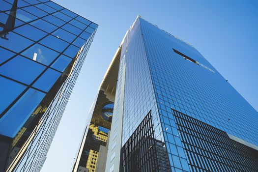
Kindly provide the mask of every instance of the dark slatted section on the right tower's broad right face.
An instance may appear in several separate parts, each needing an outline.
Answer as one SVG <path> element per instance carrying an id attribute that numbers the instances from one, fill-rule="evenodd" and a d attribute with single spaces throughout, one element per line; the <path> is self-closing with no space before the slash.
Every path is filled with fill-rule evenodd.
<path id="1" fill-rule="evenodd" d="M 257 172 L 258 151 L 226 132 L 173 110 L 193 172 Z"/>

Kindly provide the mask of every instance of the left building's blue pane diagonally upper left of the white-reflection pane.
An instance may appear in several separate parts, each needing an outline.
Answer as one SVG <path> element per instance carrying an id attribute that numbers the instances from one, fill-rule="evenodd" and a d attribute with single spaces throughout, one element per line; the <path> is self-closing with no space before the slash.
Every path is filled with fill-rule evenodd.
<path id="1" fill-rule="evenodd" d="M 19 33 L 33 41 L 38 41 L 47 35 L 46 32 L 36 29 L 30 25 L 24 25 L 14 30 L 16 33 Z"/>

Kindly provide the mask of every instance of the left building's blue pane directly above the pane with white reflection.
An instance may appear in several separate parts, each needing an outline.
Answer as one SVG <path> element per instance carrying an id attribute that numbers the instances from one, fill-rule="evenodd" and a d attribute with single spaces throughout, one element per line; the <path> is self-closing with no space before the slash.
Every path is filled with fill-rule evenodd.
<path id="1" fill-rule="evenodd" d="M 42 39 L 39 43 L 51 47 L 52 49 L 62 52 L 69 44 L 67 42 L 62 41 L 61 39 L 48 35 L 44 39 Z"/>

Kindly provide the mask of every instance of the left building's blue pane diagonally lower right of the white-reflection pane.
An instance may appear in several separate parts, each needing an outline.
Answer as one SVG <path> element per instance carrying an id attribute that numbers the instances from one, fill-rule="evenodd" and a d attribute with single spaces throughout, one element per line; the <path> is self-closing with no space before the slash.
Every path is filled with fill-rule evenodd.
<path id="1" fill-rule="evenodd" d="M 33 86 L 48 92 L 50 88 L 56 83 L 61 73 L 53 69 L 48 69 L 34 84 Z"/>

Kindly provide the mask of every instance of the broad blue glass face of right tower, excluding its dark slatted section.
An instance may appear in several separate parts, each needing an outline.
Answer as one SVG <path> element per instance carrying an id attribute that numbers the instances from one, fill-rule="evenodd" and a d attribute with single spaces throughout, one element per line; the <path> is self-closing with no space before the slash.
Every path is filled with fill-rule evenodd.
<path id="1" fill-rule="evenodd" d="M 257 111 L 195 48 L 139 20 L 172 172 L 190 169 L 171 108 L 258 145 Z"/>

